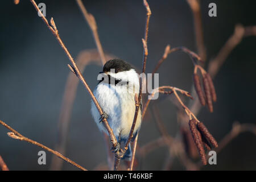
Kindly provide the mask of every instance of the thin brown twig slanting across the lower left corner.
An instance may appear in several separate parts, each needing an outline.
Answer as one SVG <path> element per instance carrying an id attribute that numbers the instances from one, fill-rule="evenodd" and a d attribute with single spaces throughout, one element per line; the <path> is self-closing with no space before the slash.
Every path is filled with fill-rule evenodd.
<path id="1" fill-rule="evenodd" d="M 11 132 L 7 133 L 7 134 L 9 135 L 9 137 L 14 138 L 14 139 L 18 139 L 18 140 L 20 140 L 20 141 L 26 141 L 26 142 L 32 143 L 32 144 L 34 144 L 34 145 L 36 145 L 36 146 L 42 147 L 42 148 L 44 148 L 45 150 L 51 152 L 52 154 L 58 156 L 59 158 L 65 160 L 65 162 L 71 163 L 73 166 L 75 166 L 75 167 L 77 167 L 77 168 L 79 168 L 79 169 L 81 169 L 81 170 L 83 170 L 83 171 L 87 171 L 87 169 L 85 169 L 84 167 L 80 166 L 79 164 L 73 162 L 72 160 L 66 158 L 64 155 L 60 154 L 59 152 L 57 152 L 57 151 L 55 151 L 55 150 L 52 150 L 51 148 L 46 147 L 46 146 L 44 146 L 44 145 L 41 144 L 41 143 L 38 143 L 38 142 L 36 142 L 36 141 L 34 141 L 34 140 L 31 140 L 31 139 L 29 139 L 29 138 L 27 138 L 27 137 L 24 137 L 22 134 L 18 133 L 18 131 L 14 130 L 12 127 L 10 127 L 9 125 L 7 125 L 5 122 L 3 122 L 3 121 L 0 120 L 0 124 L 3 125 L 3 126 L 5 126 L 8 130 L 11 131 Z"/>

